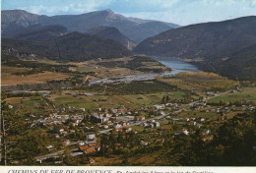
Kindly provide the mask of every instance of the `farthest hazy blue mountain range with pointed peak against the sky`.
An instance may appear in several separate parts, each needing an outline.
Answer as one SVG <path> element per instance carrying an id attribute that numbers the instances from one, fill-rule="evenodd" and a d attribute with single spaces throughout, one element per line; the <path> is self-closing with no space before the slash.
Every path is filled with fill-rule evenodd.
<path id="1" fill-rule="evenodd" d="M 162 23 L 148 20 L 131 20 L 122 15 L 115 14 L 111 10 L 96 11 L 82 15 L 59 15 L 59 16 L 39 16 L 21 10 L 2 11 L 2 35 L 11 34 L 8 31 L 10 25 L 15 23 L 19 27 L 27 28 L 34 24 L 43 26 L 61 25 L 71 31 L 85 31 L 98 26 L 106 26 L 119 29 L 121 33 L 129 39 L 140 42 L 143 39 L 158 34 L 161 31 L 172 29 L 170 23 Z M 146 28 L 150 23 L 151 27 Z M 175 28 L 176 25 L 173 25 Z M 17 28 L 14 26 L 14 28 Z M 15 30 L 15 29 L 13 29 Z"/>

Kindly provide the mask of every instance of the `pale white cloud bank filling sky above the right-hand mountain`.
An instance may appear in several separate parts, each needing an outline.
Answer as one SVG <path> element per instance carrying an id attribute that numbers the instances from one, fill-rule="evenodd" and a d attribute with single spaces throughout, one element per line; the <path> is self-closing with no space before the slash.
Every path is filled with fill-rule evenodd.
<path id="1" fill-rule="evenodd" d="M 186 26 L 256 15 L 256 0 L 182 0 L 160 11 L 124 13 L 124 16 L 160 20 Z M 159 7 L 159 6 L 158 6 Z"/>

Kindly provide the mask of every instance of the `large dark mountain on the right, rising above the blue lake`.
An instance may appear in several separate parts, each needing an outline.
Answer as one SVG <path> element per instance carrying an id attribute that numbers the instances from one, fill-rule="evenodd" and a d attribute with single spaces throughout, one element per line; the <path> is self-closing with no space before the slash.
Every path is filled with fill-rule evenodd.
<path id="1" fill-rule="evenodd" d="M 247 50 L 256 43 L 255 30 L 256 17 L 253 16 L 191 25 L 163 31 L 147 38 L 135 47 L 134 52 L 178 57 L 193 62 L 202 70 L 244 79 L 243 72 L 235 73 L 236 75 L 231 75 L 231 72 L 235 70 L 238 62 L 243 66 L 242 70 L 245 67 L 250 68 L 250 64 L 245 66 L 242 55 L 255 56 L 255 52 Z M 256 59 L 250 61 L 255 62 Z M 230 68 L 230 63 L 233 68 Z"/>

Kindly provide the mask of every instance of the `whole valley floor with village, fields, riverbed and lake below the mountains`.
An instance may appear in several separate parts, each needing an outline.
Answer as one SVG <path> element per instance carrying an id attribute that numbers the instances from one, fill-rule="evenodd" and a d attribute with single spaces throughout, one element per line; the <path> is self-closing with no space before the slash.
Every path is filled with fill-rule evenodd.
<path id="1" fill-rule="evenodd" d="M 11 165 L 178 165 L 162 152 L 172 152 L 174 146 L 166 142 L 193 138 L 197 129 L 211 144 L 225 122 L 256 109 L 255 87 L 199 72 L 177 60 L 131 56 L 57 62 L 7 57 L 2 59 L 2 89 L 4 84 L 70 84 L 6 87 L 2 92 L 6 119 L 16 124 L 8 141 L 25 150 L 27 145 L 17 144 L 27 134 L 23 143 L 32 138 L 40 148 L 29 154 L 31 160 L 12 149 Z M 175 142 L 169 142 L 171 136 Z M 154 155 L 150 160 L 149 154 Z"/>

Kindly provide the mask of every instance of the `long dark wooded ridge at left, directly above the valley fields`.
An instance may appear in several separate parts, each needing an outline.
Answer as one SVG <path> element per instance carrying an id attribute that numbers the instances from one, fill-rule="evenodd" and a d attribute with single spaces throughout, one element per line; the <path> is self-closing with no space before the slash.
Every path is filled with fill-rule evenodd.
<path id="1" fill-rule="evenodd" d="M 2 39 L 2 53 L 14 56 L 35 54 L 39 57 L 61 61 L 85 61 L 132 55 L 131 51 L 114 40 L 80 32 L 71 32 L 35 42 L 4 38 Z"/>

